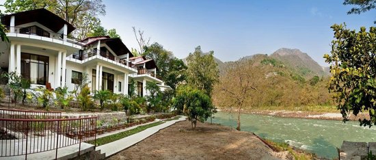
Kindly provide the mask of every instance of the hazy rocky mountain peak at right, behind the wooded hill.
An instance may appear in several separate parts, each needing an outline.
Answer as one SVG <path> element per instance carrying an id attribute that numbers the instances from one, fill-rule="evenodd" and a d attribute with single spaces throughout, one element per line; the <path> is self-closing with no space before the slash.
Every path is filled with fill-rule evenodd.
<path id="1" fill-rule="evenodd" d="M 280 60 L 286 67 L 291 68 L 303 77 L 329 75 L 327 70 L 324 70 L 307 53 L 303 53 L 299 49 L 278 49 L 270 57 Z"/>

